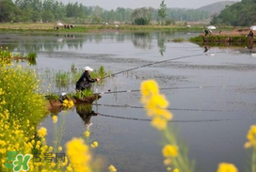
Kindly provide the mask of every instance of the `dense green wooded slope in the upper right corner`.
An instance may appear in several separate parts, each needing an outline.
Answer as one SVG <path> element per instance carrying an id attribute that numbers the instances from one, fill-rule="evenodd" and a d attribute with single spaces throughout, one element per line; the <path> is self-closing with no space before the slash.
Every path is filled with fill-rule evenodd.
<path id="1" fill-rule="evenodd" d="M 215 16 L 211 21 L 212 24 L 225 24 L 225 25 L 241 25 L 250 26 L 256 23 L 256 1 L 255 0 L 242 0 L 228 6 Z"/>

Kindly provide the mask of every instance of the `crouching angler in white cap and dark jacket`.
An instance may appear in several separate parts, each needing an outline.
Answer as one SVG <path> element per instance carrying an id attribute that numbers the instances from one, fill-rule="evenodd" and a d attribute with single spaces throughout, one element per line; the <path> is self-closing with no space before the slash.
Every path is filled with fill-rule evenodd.
<path id="1" fill-rule="evenodd" d="M 92 71 L 91 68 L 89 67 L 85 68 L 85 72 L 82 74 L 80 79 L 76 82 L 76 86 L 75 86 L 76 91 L 83 91 L 85 89 L 90 89 L 91 83 L 100 81 L 99 78 L 91 79 L 89 75 L 90 71 Z"/>

